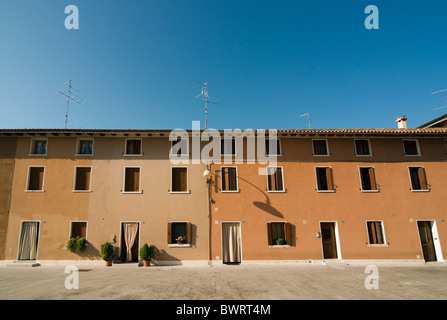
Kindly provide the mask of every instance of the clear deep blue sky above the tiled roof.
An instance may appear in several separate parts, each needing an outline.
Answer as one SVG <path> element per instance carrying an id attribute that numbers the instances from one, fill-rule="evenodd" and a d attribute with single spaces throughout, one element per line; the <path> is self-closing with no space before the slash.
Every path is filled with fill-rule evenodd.
<path id="1" fill-rule="evenodd" d="M 367 30 L 367 5 L 379 30 Z M 64 26 L 79 9 L 79 29 Z M 2 0 L 0 128 L 416 127 L 447 113 L 447 2 Z"/>

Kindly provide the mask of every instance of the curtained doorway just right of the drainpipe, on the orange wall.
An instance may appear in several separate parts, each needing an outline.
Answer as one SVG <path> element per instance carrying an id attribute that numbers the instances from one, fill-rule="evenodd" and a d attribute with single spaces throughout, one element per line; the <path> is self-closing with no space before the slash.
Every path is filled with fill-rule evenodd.
<path id="1" fill-rule="evenodd" d="M 241 263 L 241 234 L 239 222 L 222 223 L 222 261 L 226 264 Z"/>

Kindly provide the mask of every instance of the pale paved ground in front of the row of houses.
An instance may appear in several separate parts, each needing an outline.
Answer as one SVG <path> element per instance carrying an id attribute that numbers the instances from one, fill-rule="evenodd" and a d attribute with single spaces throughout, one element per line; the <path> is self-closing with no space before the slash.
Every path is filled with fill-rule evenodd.
<path id="1" fill-rule="evenodd" d="M 447 264 L 336 263 L 220 266 L 78 266 L 79 289 L 67 289 L 65 265 L 0 266 L 3 300 L 408 300 L 447 299 Z M 366 282 L 378 285 L 367 289 Z M 371 281 L 369 281 L 371 280 Z M 72 284 L 73 282 L 70 282 Z"/>

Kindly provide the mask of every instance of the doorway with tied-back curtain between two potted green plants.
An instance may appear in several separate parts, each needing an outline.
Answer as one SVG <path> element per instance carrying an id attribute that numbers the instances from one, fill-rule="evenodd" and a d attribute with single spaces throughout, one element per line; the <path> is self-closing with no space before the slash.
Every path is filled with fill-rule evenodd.
<path id="1" fill-rule="evenodd" d="M 121 223 L 120 256 L 122 262 L 138 262 L 139 222 Z"/>

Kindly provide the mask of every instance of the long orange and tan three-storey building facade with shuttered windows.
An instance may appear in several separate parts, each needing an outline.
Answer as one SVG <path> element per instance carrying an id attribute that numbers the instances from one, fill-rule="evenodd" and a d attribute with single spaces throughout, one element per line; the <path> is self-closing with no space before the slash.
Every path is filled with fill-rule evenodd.
<path id="1" fill-rule="evenodd" d="M 237 136 L 173 163 L 170 132 L 0 130 L 0 259 L 100 260 L 109 241 L 122 262 L 144 243 L 159 264 L 444 261 L 445 128 L 278 130 L 267 164 Z"/>

